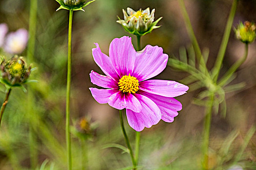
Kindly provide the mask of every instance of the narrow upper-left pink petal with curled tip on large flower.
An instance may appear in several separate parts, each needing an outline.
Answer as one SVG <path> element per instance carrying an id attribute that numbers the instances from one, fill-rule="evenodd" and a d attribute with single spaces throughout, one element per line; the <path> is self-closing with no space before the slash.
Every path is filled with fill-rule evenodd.
<path id="1" fill-rule="evenodd" d="M 117 75 L 115 69 L 112 67 L 110 58 L 101 51 L 98 43 L 94 44 L 96 45 L 96 48 L 92 49 L 92 56 L 95 63 L 107 76 L 112 77 L 114 80 L 119 80 L 120 77 Z"/>

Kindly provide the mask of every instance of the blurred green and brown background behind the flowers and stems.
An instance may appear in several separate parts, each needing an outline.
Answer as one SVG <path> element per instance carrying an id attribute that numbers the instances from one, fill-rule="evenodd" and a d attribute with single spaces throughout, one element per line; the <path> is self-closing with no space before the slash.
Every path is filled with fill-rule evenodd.
<path id="1" fill-rule="evenodd" d="M 224 33 L 232 0 L 185 0 L 195 35 L 201 49 L 209 49 L 208 68 L 212 68 Z M 29 28 L 30 0 L 0 0 L 0 23 L 7 23 L 9 31 Z M 55 10 L 55 0 L 38 0 L 37 31 L 31 79 L 32 98 L 14 89 L 6 107 L 0 128 L 0 170 L 66 169 L 65 152 L 65 88 L 67 58 L 68 11 Z M 125 145 L 118 110 L 108 104 L 97 103 L 90 94 L 89 72 L 103 73 L 92 58 L 93 43 L 99 43 L 108 54 L 113 38 L 129 35 L 116 23 L 123 18 L 122 9 L 131 7 L 155 8 L 155 18 L 163 17 L 160 28 L 142 37 L 142 47 L 157 45 L 170 57 L 179 55 L 180 47 L 190 45 L 177 0 L 96 0 L 85 12 L 74 12 L 72 32 L 71 124 L 74 170 L 116 170 L 131 166 L 127 153 L 106 148 L 108 143 Z M 238 21 L 256 21 L 256 0 L 240 0 L 233 25 Z M 136 37 L 132 35 L 136 47 Z M 223 62 L 222 75 L 243 55 L 244 45 L 231 32 Z M 11 55 L 1 51 L 1 55 Z M 26 57 L 26 50 L 22 53 Z M 256 43 L 249 45 L 246 62 L 237 70 L 231 84 L 245 82 L 246 86 L 228 93 L 227 115 L 213 114 L 210 140 L 210 167 L 229 168 L 244 143 L 249 128 L 256 123 Z M 167 67 L 157 79 L 178 81 L 187 77 Z M 143 170 L 198 170 L 205 108 L 193 104 L 202 89 L 188 91 L 177 97 L 183 109 L 172 123 L 160 121 L 141 133 L 139 165 Z M 3 101 L 4 93 L 0 93 Z M 31 106 L 31 107 L 29 107 Z M 80 119 L 91 124 L 89 135 L 77 133 Z M 125 119 L 128 136 L 133 144 L 135 133 Z M 82 137 L 81 137 L 82 136 Z M 235 140 L 232 138 L 235 136 Z M 229 151 L 223 149 L 230 145 Z M 38 156 L 36 156 L 38 155 Z M 43 164 L 43 166 L 42 166 Z M 238 162 L 244 170 L 256 170 L 256 136 Z M 45 167 L 44 167 L 45 165 Z M 43 168 L 44 167 L 44 168 Z M 220 168 L 221 170 L 222 168 Z"/>

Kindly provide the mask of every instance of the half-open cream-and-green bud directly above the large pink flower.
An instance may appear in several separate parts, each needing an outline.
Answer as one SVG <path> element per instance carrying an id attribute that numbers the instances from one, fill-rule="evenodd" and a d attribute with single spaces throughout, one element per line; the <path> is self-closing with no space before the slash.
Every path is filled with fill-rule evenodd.
<path id="1" fill-rule="evenodd" d="M 123 9 L 124 20 L 117 20 L 117 23 L 120 23 L 125 31 L 130 34 L 134 34 L 136 36 L 142 36 L 147 33 L 150 33 L 153 29 L 159 28 L 160 26 L 156 26 L 156 24 L 162 19 L 162 17 L 158 18 L 154 21 L 154 13 L 155 9 L 149 11 L 149 8 L 145 10 L 134 11 L 131 8 L 127 8 L 127 12 Z M 154 21 L 154 22 L 153 22 Z"/>

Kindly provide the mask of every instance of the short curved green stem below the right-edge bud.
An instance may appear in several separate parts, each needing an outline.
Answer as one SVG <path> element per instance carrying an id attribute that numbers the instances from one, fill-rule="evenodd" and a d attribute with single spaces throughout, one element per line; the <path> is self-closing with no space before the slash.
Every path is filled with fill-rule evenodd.
<path id="1" fill-rule="evenodd" d="M 225 83 L 229 80 L 229 78 L 233 75 L 233 73 L 235 72 L 235 70 L 237 68 L 239 68 L 239 66 L 241 66 L 246 58 L 247 58 L 247 55 L 248 55 L 248 44 L 246 43 L 245 44 L 245 52 L 244 52 L 244 55 L 243 57 L 241 57 L 239 60 L 237 60 L 235 62 L 234 65 L 231 66 L 231 68 L 229 68 L 229 70 L 226 72 L 226 74 L 222 77 L 222 79 L 219 81 L 218 85 L 222 86 L 222 85 L 225 85 Z"/>

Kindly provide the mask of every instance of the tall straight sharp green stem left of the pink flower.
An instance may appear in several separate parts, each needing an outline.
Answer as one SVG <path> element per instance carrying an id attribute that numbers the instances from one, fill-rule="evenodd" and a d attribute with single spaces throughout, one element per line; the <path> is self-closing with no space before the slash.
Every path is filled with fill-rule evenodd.
<path id="1" fill-rule="evenodd" d="M 73 10 L 69 10 L 68 45 L 67 45 L 67 81 L 66 81 L 66 149 L 68 170 L 72 170 L 71 138 L 70 138 L 70 84 L 71 84 L 71 33 Z"/>

